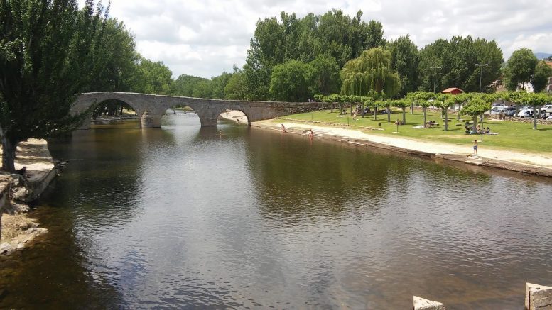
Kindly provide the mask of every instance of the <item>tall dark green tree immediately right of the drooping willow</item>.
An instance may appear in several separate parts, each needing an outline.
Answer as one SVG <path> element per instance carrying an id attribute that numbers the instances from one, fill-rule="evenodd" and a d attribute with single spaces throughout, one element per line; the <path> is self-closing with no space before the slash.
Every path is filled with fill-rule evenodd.
<path id="1" fill-rule="evenodd" d="M 419 86 L 420 56 L 418 47 L 406 35 L 406 37 L 389 42 L 386 48 L 391 52 L 391 68 L 399 74 L 401 85 L 399 97 L 404 97 L 409 92 L 415 92 Z"/>

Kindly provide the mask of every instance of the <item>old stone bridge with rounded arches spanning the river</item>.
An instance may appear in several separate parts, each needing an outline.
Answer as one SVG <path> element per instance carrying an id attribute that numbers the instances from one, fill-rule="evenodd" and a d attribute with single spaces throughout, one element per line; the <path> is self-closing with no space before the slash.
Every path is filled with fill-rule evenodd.
<path id="1" fill-rule="evenodd" d="M 227 110 L 242 111 L 247 116 L 247 121 L 250 124 L 253 121 L 323 108 L 320 103 L 310 102 L 239 101 L 126 92 L 93 92 L 78 94 L 75 104 L 71 108 L 71 113 L 79 114 L 85 111 L 92 113 L 95 106 L 112 99 L 131 106 L 141 118 L 141 128 L 161 127 L 161 117 L 167 109 L 174 106 L 190 106 L 199 116 L 201 126 L 217 126 L 217 118 Z M 90 118 L 87 118 L 81 128 L 90 128 Z"/>

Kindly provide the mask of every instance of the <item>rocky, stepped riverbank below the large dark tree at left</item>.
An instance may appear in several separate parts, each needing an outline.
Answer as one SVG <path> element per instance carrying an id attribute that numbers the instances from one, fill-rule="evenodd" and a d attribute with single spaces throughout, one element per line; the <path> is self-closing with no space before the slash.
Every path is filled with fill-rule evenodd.
<path id="1" fill-rule="evenodd" d="M 0 148 L 1 153 L 1 148 Z M 21 250 L 47 230 L 28 218 L 28 202 L 38 198 L 55 177 L 55 166 L 45 140 L 29 139 L 19 143 L 16 169 L 26 167 L 21 175 L 0 175 L 0 255 Z"/>

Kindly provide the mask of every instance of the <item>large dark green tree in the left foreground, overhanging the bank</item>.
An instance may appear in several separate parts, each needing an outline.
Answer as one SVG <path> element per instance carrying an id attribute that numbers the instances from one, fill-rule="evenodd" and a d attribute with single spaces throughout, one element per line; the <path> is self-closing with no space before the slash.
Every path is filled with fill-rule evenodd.
<path id="1" fill-rule="evenodd" d="M 2 169 L 14 172 L 16 146 L 79 125 L 75 94 L 101 76 L 104 9 L 74 0 L 0 1 L 0 135 Z"/>

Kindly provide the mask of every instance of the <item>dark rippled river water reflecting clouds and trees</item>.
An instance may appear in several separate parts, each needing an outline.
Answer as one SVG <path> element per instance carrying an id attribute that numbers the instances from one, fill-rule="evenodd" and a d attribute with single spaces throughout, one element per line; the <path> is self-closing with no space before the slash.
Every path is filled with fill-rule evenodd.
<path id="1" fill-rule="evenodd" d="M 0 308 L 521 309 L 552 284 L 549 179 L 195 114 L 136 126 L 50 143 L 50 233 L 0 261 Z"/>

